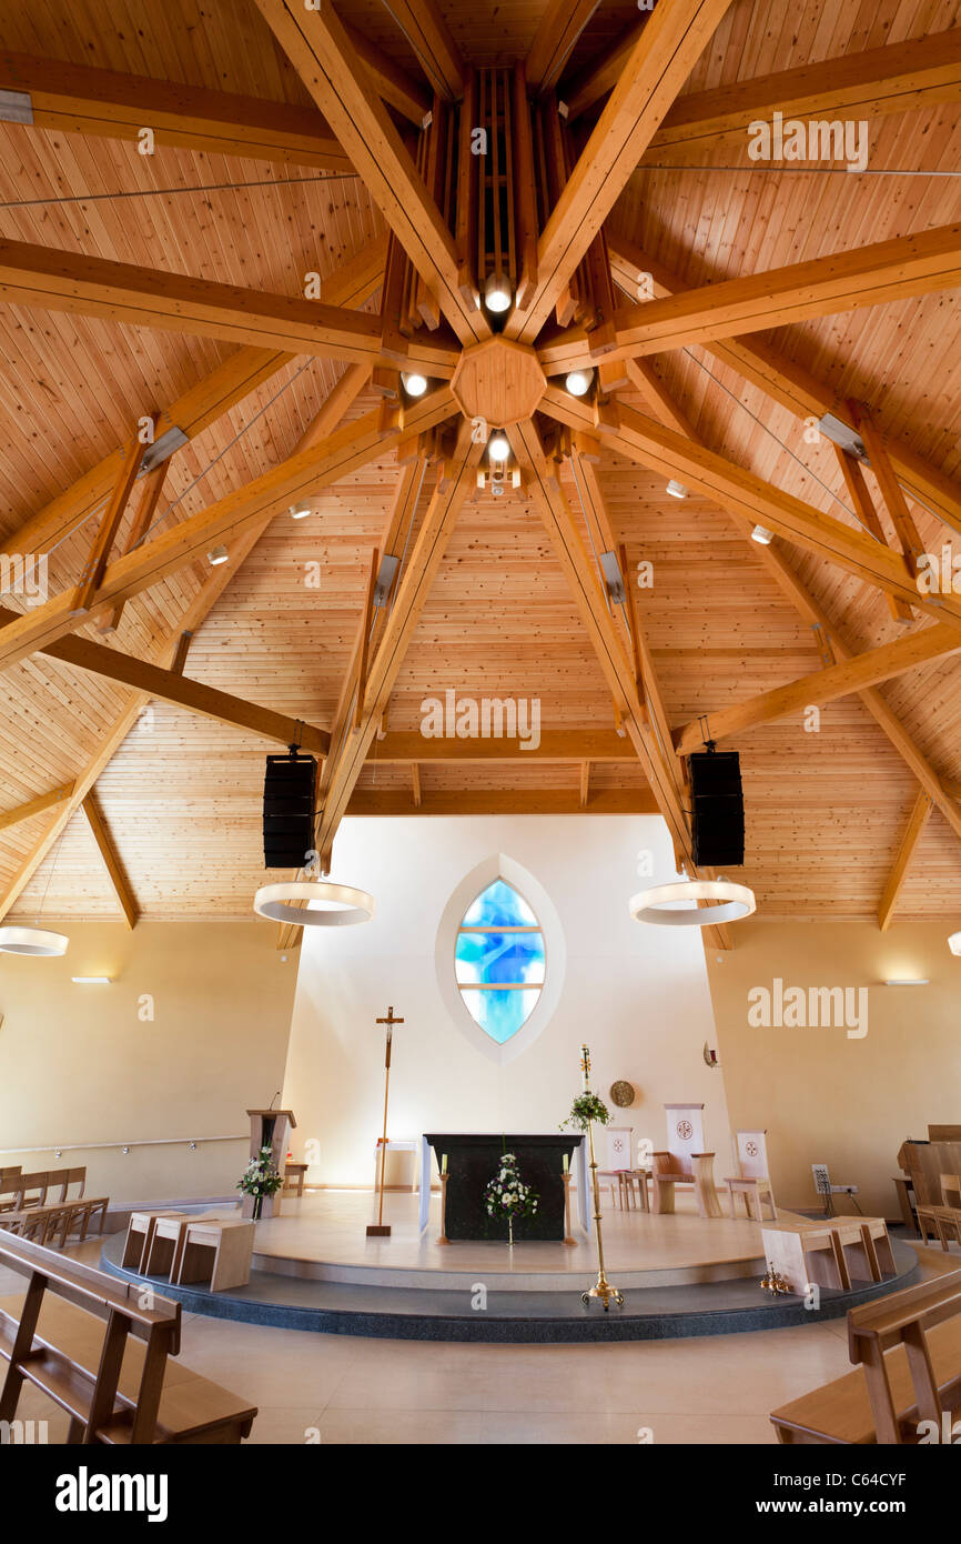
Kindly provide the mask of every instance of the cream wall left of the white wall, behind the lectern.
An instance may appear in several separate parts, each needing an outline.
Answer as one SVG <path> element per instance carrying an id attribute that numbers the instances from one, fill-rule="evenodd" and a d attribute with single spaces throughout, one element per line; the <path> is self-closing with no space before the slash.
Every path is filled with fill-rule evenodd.
<path id="1" fill-rule="evenodd" d="M 46 919 L 45 919 L 46 922 Z M 56 925 L 56 923 L 51 923 Z M 0 1166 L 88 1167 L 88 1195 L 230 1195 L 248 1106 L 281 1087 L 296 953 L 258 922 L 65 925 L 62 959 L 0 956 Z M 71 976 L 111 976 L 76 987 Z M 145 996 L 153 997 L 153 1022 Z M 177 1146 L 25 1153 L 22 1147 L 180 1138 Z"/>

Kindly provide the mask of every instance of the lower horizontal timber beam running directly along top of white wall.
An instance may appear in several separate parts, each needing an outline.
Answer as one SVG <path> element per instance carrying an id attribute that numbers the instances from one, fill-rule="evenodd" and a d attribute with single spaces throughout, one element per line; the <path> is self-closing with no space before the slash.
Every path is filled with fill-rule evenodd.
<path id="1" fill-rule="evenodd" d="M 595 789 L 586 806 L 578 789 L 355 789 L 349 815 L 657 815 L 649 789 Z M 288 945 L 285 945 L 288 946 Z"/>

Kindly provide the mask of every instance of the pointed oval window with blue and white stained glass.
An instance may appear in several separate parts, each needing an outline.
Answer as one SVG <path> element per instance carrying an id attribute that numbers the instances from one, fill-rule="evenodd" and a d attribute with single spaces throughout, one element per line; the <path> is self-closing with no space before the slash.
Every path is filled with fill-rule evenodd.
<path id="1" fill-rule="evenodd" d="M 457 929 L 455 974 L 467 1013 L 503 1045 L 528 1022 L 545 985 L 545 936 L 503 879 L 481 889 Z"/>

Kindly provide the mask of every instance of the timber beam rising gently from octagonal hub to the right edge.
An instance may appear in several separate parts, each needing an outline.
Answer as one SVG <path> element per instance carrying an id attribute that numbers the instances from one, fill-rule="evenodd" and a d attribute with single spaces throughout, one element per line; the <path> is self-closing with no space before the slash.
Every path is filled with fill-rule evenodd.
<path id="1" fill-rule="evenodd" d="M 568 327 L 538 347 L 548 374 L 784 327 L 961 284 L 961 224 L 895 236 L 767 273 L 722 279 L 614 313 L 614 341 Z"/>

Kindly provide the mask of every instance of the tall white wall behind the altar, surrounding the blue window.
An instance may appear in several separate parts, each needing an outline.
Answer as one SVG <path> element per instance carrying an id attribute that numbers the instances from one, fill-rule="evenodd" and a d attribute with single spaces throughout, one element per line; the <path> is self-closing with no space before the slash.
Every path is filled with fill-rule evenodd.
<path id="1" fill-rule="evenodd" d="M 654 852 L 654 875 L 642 882 L 643 848 Z M 566 940 L 560 1005 L 506 1065 L 455 1028 L 435 968 L 452 892 L 497 852 L 543 886 Z M 284 1104 L 298 1118 L 295 1153 L 310 1139 L 319 1144 L 309 1180 L 372 1180 L 384 1098 L 375 1019 L 389 1004 L 406 1021 L 393 1038 L 392 1136 L 438 1127 L 554 1132 L 580 1090 L 580 1044 L 588 1041 L 592 1084 L 603 1098 L 615 1078 L 639 1089 L 617 1124 L 662 1147 L 663 1102 L 703 1101 L 705 1138 L 725 1172 L 723 1081 L 702 1055 L 705 1041 L 717 1041 L 700 929 L 656 928 L 628 914 L 637 889 L 673 877 L 666 828 L 654 815 L 346 820 L 333 879 L 370 891 L 376 916 L 356 928 L 304 929 Z"/>

